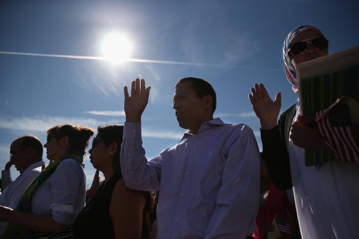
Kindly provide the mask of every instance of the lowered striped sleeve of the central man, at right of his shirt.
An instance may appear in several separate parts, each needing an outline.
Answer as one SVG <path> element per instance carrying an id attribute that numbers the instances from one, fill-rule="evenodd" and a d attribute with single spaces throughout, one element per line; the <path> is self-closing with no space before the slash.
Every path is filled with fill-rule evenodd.
<path id="1" fill-rule="evenodd" d="M 247 126 L 234 132 L 228 142 L 222 186 L 205 238 L 244 239 L 256 230 L 260 185 L 258 145 Z"/>

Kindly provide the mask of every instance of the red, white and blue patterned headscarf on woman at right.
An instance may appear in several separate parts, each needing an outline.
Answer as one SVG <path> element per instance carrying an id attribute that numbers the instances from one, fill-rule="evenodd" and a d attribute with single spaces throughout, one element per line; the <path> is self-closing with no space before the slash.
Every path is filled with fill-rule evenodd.
<path id="1" fill-rule="evenodd" d="M 288 81 L 290 83 L 292 83 L 294 92 L 296 89 L 298 89 L 297 75 L 295 73 L 295 69 L 292 64 L 292 61 L 290 61 L 290 59 L 289 59 L 288 50 L 289 50 L 290 46 L 292 45 L 293 38 L 298 33 L 303 32 L 304 30 L 307 30 L 307 29 L 313 30 L 313 31 L 319 33 L 322 37 L 324 37 L 323 33 L 318 28 L 312 27 L 309 25 L 304 25 L 304 26 L 300 26 L 300 27 L 297 27 L 294 30 L 292 30 L 292 32 L 290 32 L 286 36 L 284 43 L 283 43 L 283 60 L 284 60 L 285 75 L 287 76 Z"/>

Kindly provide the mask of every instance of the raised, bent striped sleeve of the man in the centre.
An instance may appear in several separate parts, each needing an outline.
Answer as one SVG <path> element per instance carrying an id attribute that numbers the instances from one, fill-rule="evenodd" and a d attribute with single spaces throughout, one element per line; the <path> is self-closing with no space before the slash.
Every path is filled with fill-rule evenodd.
<path id="1" fill-rule="evenodd" d="M 141 123 L 125 122 L 121 146 L 121 172 L 125 185 L 142 191 L 157 191 L 160 186 L 161 157 L 151 161 L 142 147 Z"/>

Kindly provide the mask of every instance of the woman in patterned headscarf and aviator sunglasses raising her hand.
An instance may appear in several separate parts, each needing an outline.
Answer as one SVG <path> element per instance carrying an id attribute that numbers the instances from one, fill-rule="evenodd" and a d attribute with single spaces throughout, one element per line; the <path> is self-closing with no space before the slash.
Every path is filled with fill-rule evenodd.
<path id="1" fill-rule="evenodd" d="M 283 44 L 285 73 L 298 94 L 295 64 L 328 54 L 328 40 L 315 27 L 292 30 Z M 280 190 L 293 186 L 302 238 L 355 238 L 359 220 L 358 164 L 338 160 L 321 167 L 307 167 L 303 148 L 327 148 L 312 119 L 300 115 L 299 99 L 280 115 L 281 94 L 272 101 L 263 84 L 249 95 L 260 121 L 263 153 L 274 185 Z"/>

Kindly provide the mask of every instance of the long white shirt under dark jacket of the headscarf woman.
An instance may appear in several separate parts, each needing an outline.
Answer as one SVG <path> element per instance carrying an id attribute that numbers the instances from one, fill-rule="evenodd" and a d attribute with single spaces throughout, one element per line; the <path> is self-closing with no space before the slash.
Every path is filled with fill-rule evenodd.
<path id="1" fill-rule="evenodd" d="M 307 167 L 303 148 L 291 140 L 289 159 L 302 238 L 357 238 L 359 165 L 335 160 Z"/>

